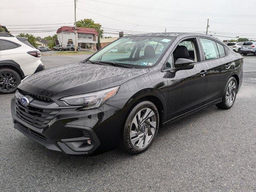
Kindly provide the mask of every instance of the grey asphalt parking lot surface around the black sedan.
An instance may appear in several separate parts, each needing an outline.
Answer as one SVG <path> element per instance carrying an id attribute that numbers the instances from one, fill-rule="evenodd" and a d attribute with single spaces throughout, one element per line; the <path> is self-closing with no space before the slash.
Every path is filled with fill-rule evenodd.
<path id="1" fill-rule="evenodd" d="M 46 68 L 89 55 L 42 56 Z M 230 110 L 206 108 L 164 126 L 146 152 L 89 158 L 52 152 L 13 128 L 0 95 L 0 191 L 256 191 L 256 56 Z"/>

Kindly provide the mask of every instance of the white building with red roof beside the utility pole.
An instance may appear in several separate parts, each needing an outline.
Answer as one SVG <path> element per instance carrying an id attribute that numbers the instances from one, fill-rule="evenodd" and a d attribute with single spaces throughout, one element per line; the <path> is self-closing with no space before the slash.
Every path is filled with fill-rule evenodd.
<path id="1" fill-rule="evenodd" d="M 60 44 L 75 44 L 74 27 L 62 26 L 58 28 L 56 33 Z M 81 49 L 97 50 L 98 32 L 95 28 L 77 27 L 77 42 Z"/>

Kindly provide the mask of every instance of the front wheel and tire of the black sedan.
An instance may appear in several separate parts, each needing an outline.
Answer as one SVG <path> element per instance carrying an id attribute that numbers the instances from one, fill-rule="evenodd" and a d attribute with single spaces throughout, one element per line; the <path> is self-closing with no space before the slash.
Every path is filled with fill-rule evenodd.
<path id="1" fill-rule="evenodd" d="M 153 113 L 152 113 L 153 112 Z M 137 120 L 139 119 L 138 122 Z M 149 114 L 147 120 L 141 124 L 141 120 Z M 141 124 L 141 126 L 136 126 Z M 154 128 L 155 126 L 155 128 Z M 125 118 L 121 131 L 121 148 L 130 154 L 138 154 L 149 148 L 159 128 L 159 113 L 155 104 L 150 101 L 138 102 Z M 147 138 L 147 140 L 145 140 Z"/>

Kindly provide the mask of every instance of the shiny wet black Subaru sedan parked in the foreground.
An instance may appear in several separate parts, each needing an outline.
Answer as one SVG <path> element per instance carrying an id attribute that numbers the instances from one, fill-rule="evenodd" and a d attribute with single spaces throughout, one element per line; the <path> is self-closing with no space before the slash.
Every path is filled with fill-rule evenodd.
<path id="1" fill-rule="evenodd" d="M 162 124 L 211 105 L 231 108 L 242 76 L 242 56 L 212 36 L 125 36 L 82 62 L 26 78 L 12 98 L 14 128 L 66 154 L 117 146 L 136 154 Z"/>

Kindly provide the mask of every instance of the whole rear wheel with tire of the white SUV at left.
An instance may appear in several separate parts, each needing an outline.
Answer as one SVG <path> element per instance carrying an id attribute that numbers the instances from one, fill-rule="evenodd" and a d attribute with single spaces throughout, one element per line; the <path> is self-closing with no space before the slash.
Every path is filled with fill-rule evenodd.
<path id="1" fill-rule="evenodd" d="M 8 84 L 6 84 L 7 82 Z M 13 69 L 3 68 L 0 69 L 0 94 L 14 93 L 20 84 L 20 75 Z"/>

